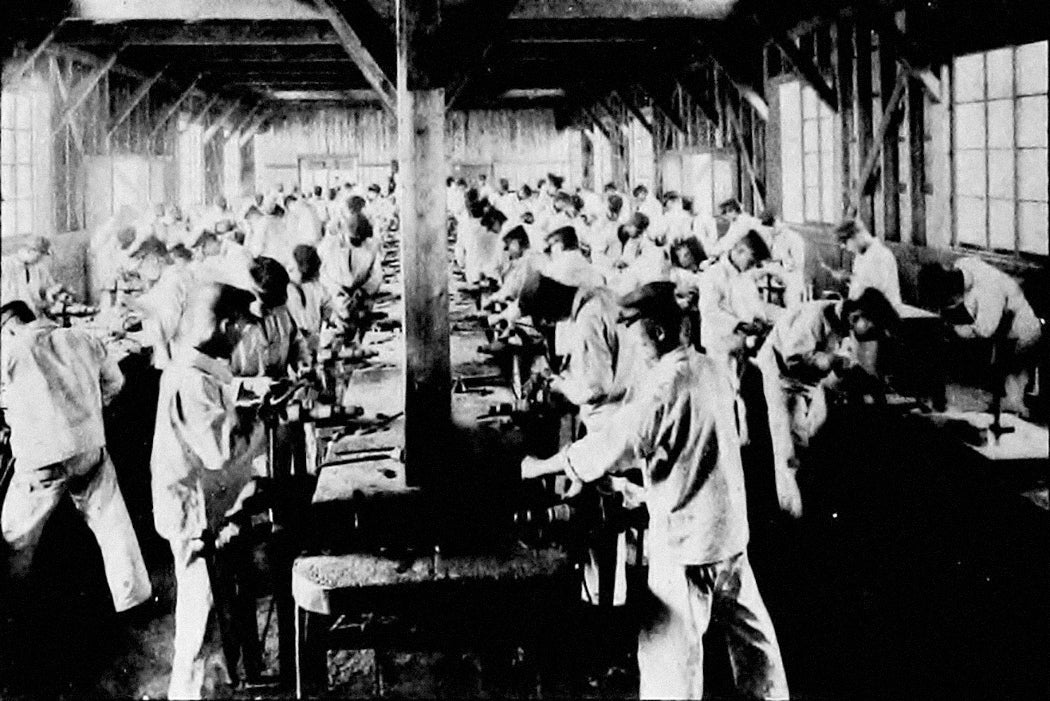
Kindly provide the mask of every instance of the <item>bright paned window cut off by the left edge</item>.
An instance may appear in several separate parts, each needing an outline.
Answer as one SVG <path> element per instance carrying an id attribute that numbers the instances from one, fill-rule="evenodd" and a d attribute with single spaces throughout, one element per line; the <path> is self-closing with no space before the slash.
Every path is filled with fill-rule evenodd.
<path id="1" fill-rule="evenodd" d="M 0 236 L 4 238 L 33 233 L 33 102 L 32 93 L 4 90 L 0 95 Z"/>

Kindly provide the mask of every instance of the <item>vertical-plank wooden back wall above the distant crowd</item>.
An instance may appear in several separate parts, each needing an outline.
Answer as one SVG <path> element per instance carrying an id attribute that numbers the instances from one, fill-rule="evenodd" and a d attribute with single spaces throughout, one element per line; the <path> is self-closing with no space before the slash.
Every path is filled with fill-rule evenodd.
<path id="1" fill-rule="evenodd" d="M 446 158 L 449 168 L 486 166 L 512 187 L 534 184 L 548 172 L 569 171 L 572 136 L 555 129 L 550 110 L 454 111 L 445 122 Z M 381 183 L 397 158 L 397 124 L 379 108 L 303 109 L 276 120 L 254 142 L 259 190 L 297 184 L 301 156 L 349 157 L 362 184 Z"/>

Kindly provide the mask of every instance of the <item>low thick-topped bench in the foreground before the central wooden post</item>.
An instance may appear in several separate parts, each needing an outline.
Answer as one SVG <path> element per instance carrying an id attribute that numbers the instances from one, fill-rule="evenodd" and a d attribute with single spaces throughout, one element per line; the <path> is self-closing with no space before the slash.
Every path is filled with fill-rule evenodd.
<path id="1" fill-rule="evenodd" d="M 334 646 L 484 650 L 496 639 L 532 646 L 566 630 L 575 587 L 569 557 L 556 548 L 436 554 L 411 565 L 370 553 L 299 557 L 292 567 L 296 696 L 323 691 Z M 378 665 L 376 681 L 380 694 Z"/>

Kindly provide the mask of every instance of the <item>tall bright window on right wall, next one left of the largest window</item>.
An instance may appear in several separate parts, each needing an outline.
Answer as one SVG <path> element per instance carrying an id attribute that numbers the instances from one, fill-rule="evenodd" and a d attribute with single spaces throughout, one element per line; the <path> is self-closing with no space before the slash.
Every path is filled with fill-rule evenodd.
<path id="1" fill-rule="evenodd" d="M 781 83 L 778 98 L 784 220 L 838 221 L 842 192 L 836 170 L 840 135 L 835 111 L 800 81 Z"/>

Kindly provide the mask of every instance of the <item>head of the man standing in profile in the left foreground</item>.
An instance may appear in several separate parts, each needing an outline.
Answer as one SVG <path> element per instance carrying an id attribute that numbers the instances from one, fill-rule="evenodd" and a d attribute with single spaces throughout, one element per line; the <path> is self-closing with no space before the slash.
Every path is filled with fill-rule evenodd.
<path id="1" fill-rule="evenodd" d="M 212 358 L 229 358 L 245 328 L 256 321 L 254 301 L 255 295 L 229 284 L 195 286 L 186 309 L 187 342 Z"/>

